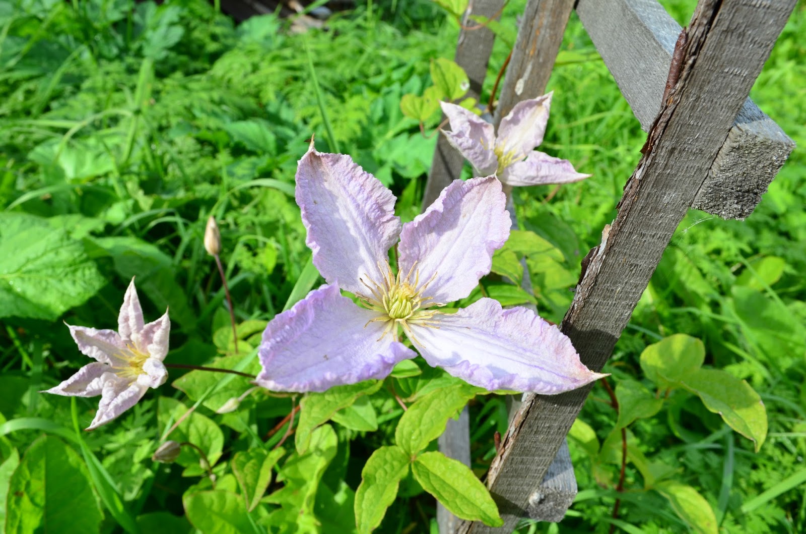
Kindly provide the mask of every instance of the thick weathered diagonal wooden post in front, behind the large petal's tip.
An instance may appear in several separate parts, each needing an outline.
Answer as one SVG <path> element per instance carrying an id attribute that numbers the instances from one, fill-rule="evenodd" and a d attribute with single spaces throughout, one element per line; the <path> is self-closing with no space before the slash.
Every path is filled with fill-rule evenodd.
<path id="1" fill-rule="evenodd" d="M 697 6 L 683 72 L 650 131 L 616 220 L 588 255 L 561 325 L 589 368 L 600 370 L 613 351 L 795 3 L 701 0 Z M 525 395 L 488 474 L 505 525 L 463 524 L 459 532 L 513 530 L 591 388 Z"/>

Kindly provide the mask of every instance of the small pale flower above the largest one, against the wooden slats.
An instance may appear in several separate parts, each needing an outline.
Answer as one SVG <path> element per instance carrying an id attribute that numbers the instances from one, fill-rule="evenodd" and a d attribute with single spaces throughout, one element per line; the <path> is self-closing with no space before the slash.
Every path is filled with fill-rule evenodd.
<path id="1" fill-rule="evenodd" d="M 507 186 L 583 180 L 591 175 L 577 173 L 569 161 L 534 150 L 543 142 L 552 94 L 518 102 L 501 120 L 497 136 L 492 124 L 472 111 L 439 102 L 451 121 L 451 131 L 442 130 L 442 133 L 480 174 L 495 173 Z"/>

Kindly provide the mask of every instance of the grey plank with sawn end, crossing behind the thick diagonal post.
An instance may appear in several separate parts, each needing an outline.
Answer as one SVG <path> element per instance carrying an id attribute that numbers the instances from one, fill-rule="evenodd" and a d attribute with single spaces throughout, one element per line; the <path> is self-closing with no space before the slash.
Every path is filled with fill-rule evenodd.
<path id="1" fill-rule="evenodd" d="M 576 14 L 649 131 L 663 100 L 680 25 L 656 0 L 579 0 Z M 795 143 L 747 98 L 692 207 L 744 219 L 793 148 Z"/>

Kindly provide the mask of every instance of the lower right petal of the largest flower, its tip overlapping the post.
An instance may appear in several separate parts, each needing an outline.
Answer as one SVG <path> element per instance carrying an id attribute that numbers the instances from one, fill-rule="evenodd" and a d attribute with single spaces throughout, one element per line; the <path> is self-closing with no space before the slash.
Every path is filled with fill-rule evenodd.
<path id="1" fill-rule="evenodd" d="M 410 325 L 414 346 L 430 365 L 473 386 L 558 394 L 606 376 L 582 364 L 558 327 L 523 307 L 502 310 L 481 298 L 433 319 L 436 328 Z"/>

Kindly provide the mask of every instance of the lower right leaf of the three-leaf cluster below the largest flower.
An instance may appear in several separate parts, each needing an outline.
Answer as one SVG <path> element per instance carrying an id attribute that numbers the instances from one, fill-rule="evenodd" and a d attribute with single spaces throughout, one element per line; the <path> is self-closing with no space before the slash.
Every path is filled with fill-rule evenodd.
<path id="1" fill-rule="evenodd" d="M 504 524 L 490 492 L 467 465 L 432 451 L 422 453 L 411 465 L 414 478 L 453 515 L 482 521 L 490 527 Z"/>

